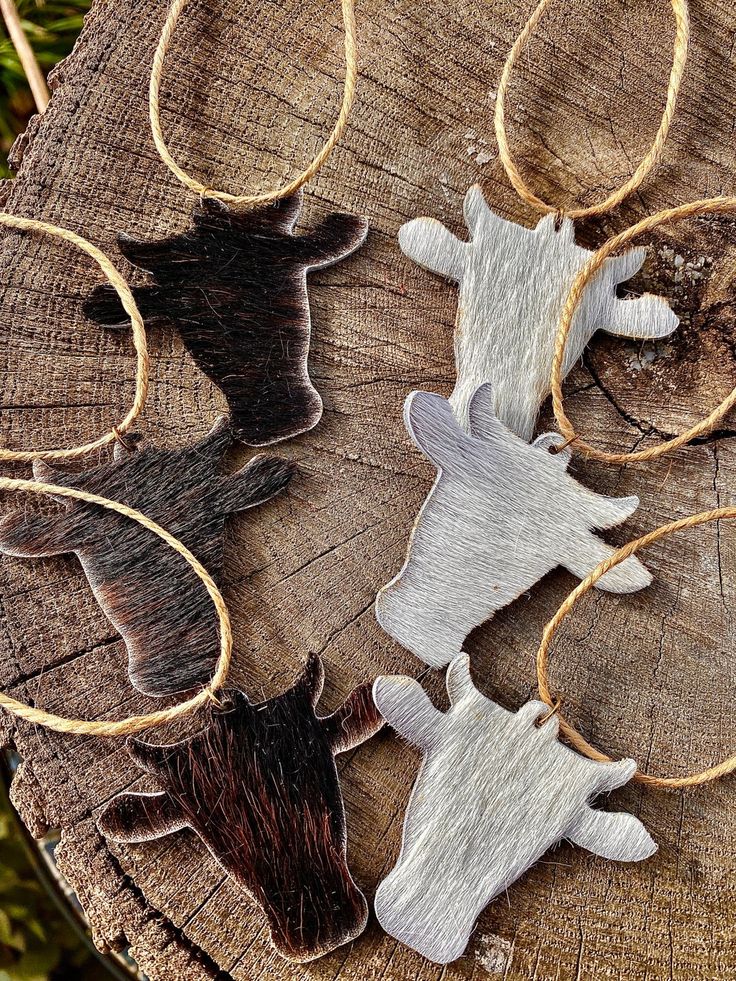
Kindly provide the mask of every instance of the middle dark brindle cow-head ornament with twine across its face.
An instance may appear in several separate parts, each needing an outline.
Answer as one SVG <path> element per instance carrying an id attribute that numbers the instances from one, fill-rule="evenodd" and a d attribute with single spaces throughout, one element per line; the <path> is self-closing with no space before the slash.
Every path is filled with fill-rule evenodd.
<path id="1" fill-rule="evenodd" d="M 110 463 L 70 473 L 36 462 L 34 476 L 77 487 L 142 511 L 182 541 L 217 578 L 225 520 L 268 501 L 293 465 L 259 455 L 222 474 L 232 433 L 225 419 L 183 449 L 115 446 Z M 181 558 L 149 531 L 114 511 L 60 498 L 54 514 L 15 511 L 0 521 L 0 552 L 35 558 L 75 553 L 105 615 L 128 649 L 132 684 L 146 695 L 188 691 L 210 677 L 219 654 L 217 618 L 207 591 Z"/>

